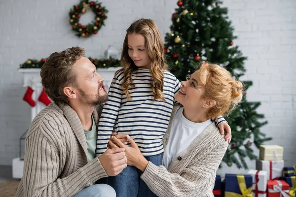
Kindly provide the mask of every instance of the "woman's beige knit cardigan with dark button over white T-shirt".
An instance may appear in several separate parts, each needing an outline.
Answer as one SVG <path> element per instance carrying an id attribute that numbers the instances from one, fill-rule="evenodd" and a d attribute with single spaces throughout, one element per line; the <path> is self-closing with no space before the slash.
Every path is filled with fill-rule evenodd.
<path id="1" fill-rule="evenodd" d="M 174 106 L 171 120 L 163 137 L 168 144 L 172 123 L 181 105 Z M 182 131 L 178 131 L 182 132 Z M 216 171 L 227 149 L 215 122 L 208 126 L 188 148 L 178 154 L 169 168 L 148 163 L 141 178 L 159 197 L 214 197 Z"/>

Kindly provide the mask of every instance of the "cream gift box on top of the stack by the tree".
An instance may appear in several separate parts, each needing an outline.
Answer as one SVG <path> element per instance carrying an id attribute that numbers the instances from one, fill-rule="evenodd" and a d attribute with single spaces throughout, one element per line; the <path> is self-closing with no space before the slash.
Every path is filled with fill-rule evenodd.
<path id="1" fill-rule="evenodd" d="M 278 145 L 260 145 L 260 160 L 281 161 L 283 160 L 284 148 Z"/>

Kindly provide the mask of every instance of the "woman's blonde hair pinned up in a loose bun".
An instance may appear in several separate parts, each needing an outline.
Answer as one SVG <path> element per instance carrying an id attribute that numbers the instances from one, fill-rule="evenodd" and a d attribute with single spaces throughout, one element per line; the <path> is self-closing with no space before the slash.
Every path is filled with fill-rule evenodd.
<path id="1" fill-rule="evenodd" d="M 236 108 L 243 97 L 243 84 L 233 79 L 228 70 L 217 64 L 201 62 L 199 65 L 199 79 L 204 87 L 203 99 L 213 99 L 215 106 L 211 107 L 208 117 L 218 117 Z"/>

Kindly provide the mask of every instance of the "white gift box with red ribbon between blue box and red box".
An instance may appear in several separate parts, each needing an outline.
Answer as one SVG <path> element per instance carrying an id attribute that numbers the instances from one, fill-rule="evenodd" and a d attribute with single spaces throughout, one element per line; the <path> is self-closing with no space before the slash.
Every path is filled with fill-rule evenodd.
<path id="1" fill-rule="evenodd" d="M 266 197 L 267 172 L 251 169 L 248 174 L 253 177 L 253 197 Z"/>

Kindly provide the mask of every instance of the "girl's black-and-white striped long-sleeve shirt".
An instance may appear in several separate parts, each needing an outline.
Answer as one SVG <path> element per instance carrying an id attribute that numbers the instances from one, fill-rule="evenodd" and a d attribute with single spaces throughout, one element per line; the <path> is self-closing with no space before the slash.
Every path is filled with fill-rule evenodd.
<path id="1" fill-rule="evenodd" d="M 112 131 L 132 136 L 144 156 L 162 153 L 162 137 L 169 124 L 174 95 L 181 86 L 179 80 L 169 71 L 164 71 L 165 101 L 153 101 L 149 69 L 139 68 L 132 74 L 135 85 L 129 90 L 132 100 L 122 92 L 123 78 L 123 71 L 119 70 L 112 80 L 109 99 L 99 121 L 97 155 L 106 151 Z"/>

